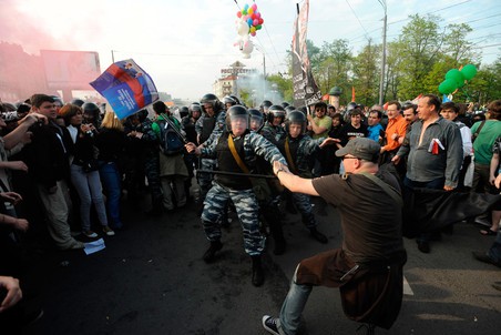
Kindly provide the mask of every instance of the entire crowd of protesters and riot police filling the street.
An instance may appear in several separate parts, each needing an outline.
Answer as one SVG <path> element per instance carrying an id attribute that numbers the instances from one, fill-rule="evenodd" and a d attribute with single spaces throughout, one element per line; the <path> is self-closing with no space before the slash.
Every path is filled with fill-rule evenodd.
<path id="1" fill-rule="evenodd" d="M 11 324 L 22 317 L 16 278 L 22 281 L 23 262 L 12 256 L 20 241 L 78 250 L 120 234 L 126 224 L 122 202 L 144 203 L 146 190 L 146 215 L 183 211 L 190 201 L 198 205 L 208 241 L 202 255 L 206 263 L 217 261 L 221 227 L 236 212 L 255 286 L 265 282 L 263 226 L 276 255 L 287 248 L 280 204 L 299 213 L 311 240 L 324 244 L 328 237 L 318 229 L 310 196 L 338 207 L 342 248 L 298 265 L 280 317 L 263 318 L 272 334 L 296 334 L 314 285 L 346 290 L 345 283 L 367 278 L 374 268 L 374 282 L 401 278 L 406 253 L 399 199 L 415 189 L 500 193 L 501 100 L 485 112 L 441 103 L 433 94 L 418 103 L 367 108 L 352 102 L 339 110 L 318 102 L 308 111 L 270 101 L 247 109 L 237 97 L 219 100 L 208 93 L 176 113 L 157 101 L 153 113 L 144 109 L 122 121 L 110 105 L 63 103 L 47 94 L 0 108 L 0 287 L 8 292 L 0 318 Z M 360 211 L 345 210 L 356 203 Z M 473 254 L 498 266 L 500 220 L 499 207 L 476 219 L 484 225 L 480 234 L 498 238 L 489 252 Z M 451 232 L 452 226 L 422 232 L 417 246 L 429 253 L 431 241 Z M 43 234 L 49 238 L 40 241 Z M 325 275 L 331 266 L 340 276 Z M 381 266 L 388 273 L 381 274 Z M 16 304 L 21 307 L 9 312 Z"/>

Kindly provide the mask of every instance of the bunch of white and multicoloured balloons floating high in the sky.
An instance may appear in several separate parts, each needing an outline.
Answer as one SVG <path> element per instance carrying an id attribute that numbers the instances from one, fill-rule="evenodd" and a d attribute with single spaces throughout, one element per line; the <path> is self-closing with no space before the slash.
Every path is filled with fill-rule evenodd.
<path id="1" fill-rule="evenodd" d="M 254 50 L 254 44 L 249 40 L 249 35 L 255 37 L 256 32 L 263 28 L 265 22 L 260 17 L 260 12 L 257 10 L 257 4 L 245 4 L 244 8 L 236 12 L 236 31 L 239 38 L 235 42 L 235 45 L 242 51 L 244 58 L 250 58 L 250 53 Z"/>

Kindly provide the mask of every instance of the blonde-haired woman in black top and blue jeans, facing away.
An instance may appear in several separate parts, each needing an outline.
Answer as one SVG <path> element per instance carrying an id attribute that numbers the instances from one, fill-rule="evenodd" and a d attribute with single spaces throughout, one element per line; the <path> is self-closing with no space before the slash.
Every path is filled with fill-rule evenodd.
<path id="1" fill-rule="evenodd" d="M 112 229 L 120 230 L 123 227 L 120 217 L 120 196 L 122 194 L 120 164 L 125 148 L 125 133 L 122 122 L 110 104 L 106 104 L 100 132 L 95 136 L 95 145 L 99 149 L 99 174 L 106 194 L 110 225 Z"/>

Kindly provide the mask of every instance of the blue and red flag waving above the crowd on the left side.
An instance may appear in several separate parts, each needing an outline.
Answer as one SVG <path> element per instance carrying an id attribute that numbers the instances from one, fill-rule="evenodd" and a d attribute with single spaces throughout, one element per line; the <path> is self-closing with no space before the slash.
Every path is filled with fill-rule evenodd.
<path id="1" fill-rule="evenodd" d="M 152 78 L 132 59 L 111 64 L 90 85 L 108 100 L 119 119 L 159 100 Z"/>

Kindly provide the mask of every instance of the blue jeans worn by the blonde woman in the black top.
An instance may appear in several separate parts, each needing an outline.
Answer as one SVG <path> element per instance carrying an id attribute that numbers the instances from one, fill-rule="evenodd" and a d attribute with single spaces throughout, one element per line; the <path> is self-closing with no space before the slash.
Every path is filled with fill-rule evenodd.
<path id="1" fill-rule="evenodd" d="M 106 192 L 106 207 L 111 226 L 115 229 L 122 227 L 120 219 L 120 196 L 122 193 L 121 181 L 122 176 L 119 168 L 114 162 L 100 162 L 99 174 Z"/>

